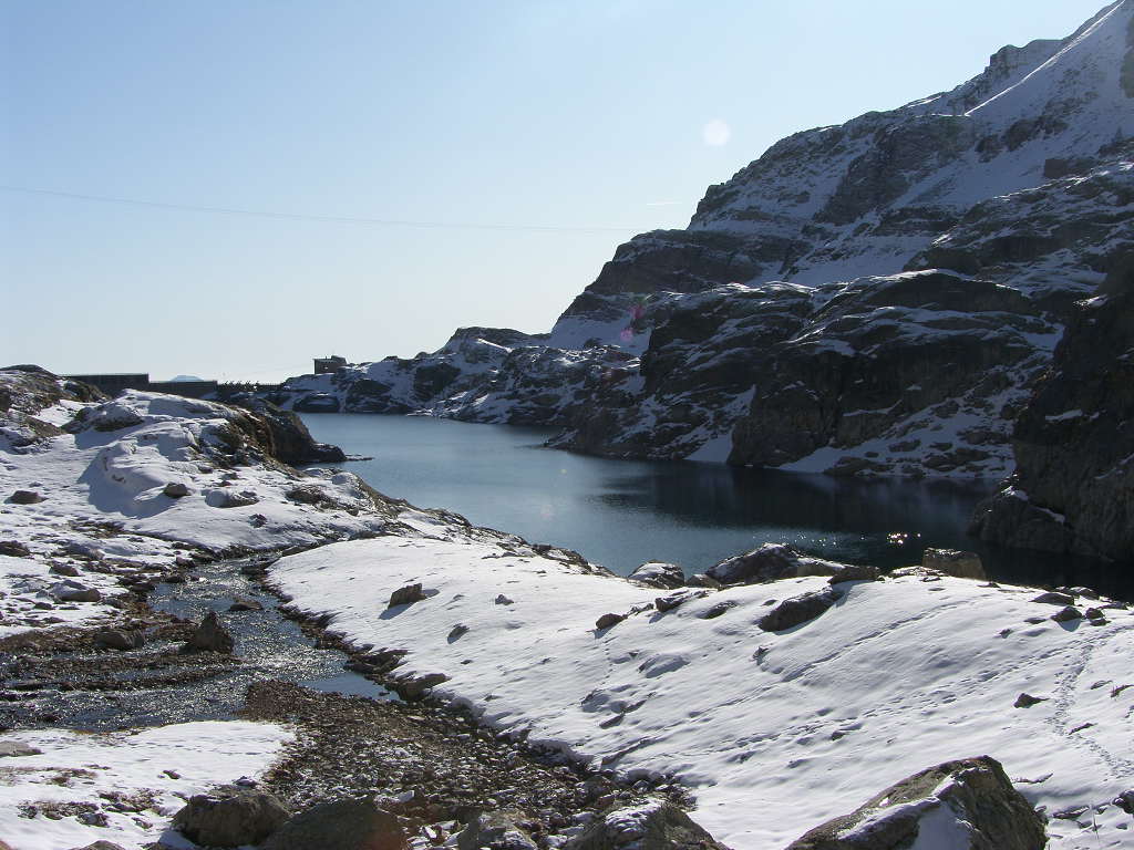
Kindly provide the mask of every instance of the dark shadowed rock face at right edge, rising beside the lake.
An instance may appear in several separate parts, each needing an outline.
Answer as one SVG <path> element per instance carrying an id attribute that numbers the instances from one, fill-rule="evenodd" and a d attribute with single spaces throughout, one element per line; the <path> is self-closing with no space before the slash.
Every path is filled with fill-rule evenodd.
<path id="1" fill-rule="evenodd" d="M 983 539 L 1134 561 L 1134 255 L 1078 305 L 1013 448 L 973 521 Z"/>

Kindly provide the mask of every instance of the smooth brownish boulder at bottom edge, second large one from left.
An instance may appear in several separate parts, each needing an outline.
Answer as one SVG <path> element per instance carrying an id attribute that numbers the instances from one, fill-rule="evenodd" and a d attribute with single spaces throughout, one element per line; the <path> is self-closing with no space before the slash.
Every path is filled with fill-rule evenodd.
<path id="1" fill-rule="evenodd" d="M 261 850 L 403 850 L 408 847 L 397 816 L 373 798 L 332 800 L 298 813 Z"/>

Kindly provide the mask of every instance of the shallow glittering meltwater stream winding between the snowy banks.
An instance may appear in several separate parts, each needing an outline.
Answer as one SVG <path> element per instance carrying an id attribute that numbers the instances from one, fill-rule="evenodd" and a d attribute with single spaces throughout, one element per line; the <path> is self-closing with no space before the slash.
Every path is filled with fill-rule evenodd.
<path id="1" fill-rule="evenodd" d="M 184 584 L 160 584 L 149 596 L 155 612 L 194 623 L 215 611 L 235 639 L 231 656 L 183 654 L 183 637 L 162 637 L 154 629 L 147 629 L 143 647 L 126 652 L 28 654 L 16 662 L 17 675 L 6 677 L 6 722 L 113 730 L 226 720 L 243 707 L 249 685 L 272 679 L 327 692 L 398 699 L 346 670 L 345 653 L 315 646 L 285 618 L 277 609 L 279 598 L 242 572 L 254 561 L 203 564 Z M 249 610 L 230 611 L 237 600 Z"/>

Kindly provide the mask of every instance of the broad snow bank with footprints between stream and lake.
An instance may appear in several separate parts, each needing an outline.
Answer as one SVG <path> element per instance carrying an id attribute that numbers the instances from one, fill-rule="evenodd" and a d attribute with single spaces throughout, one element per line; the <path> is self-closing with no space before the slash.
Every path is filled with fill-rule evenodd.
<path id="1" fill-rule="evenodd" d="M 695 819 L 737 850 L 784 845 L 912 773 L 979 754 L 1049 810 L 1128 788 L 1134 688 L 1109 694 L 1131 681 L 1134 615 L 1033 624 L 1051 613 L 1030 602 L 1035 590 L 924 578 L 849 586 L 818 620 L 765 634 L 754 623 L 769 600 L 824 580 L 730 588 L 659 614 L 646 607 L 658 590 L 535 552 L 397 536 L 291 555 L 270 576 L 347 640 L 407 649 L 399 673 L 448 675 L 434 694 L 485 723 L 632 776 L 677 776 L 697 797 Z M 411 581 L 437 593 L 387 612 Z M 494 605 L 500 593 L 515 604 Z M 736 605 L 702 619 L 721 601 Z M 608 612 L 629 617 L 598 631 Z M 469 630 L 449 644 L 456 623 Z M 1014 708 L 1025 690 L 1049 699 Z M 1051 847 L 1124 845 L 1127 816 L 1095 817 L 1097 834 L 1053 822 Z"/>

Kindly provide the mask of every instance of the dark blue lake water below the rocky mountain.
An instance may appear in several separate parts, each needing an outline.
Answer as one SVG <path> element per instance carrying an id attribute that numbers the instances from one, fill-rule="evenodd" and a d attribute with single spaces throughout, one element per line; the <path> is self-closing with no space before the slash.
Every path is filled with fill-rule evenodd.
<path id="1" fill-rule="evenodd" d="M 980 552 L 1004 580 L 1089 584 L 1098 564 L 991 550 L 966 534 L 995 482 L 861 481 L 693 461 L 610 460 L 542 447 L 553 432 L 429 417 L 305 414 L 316 440 L 380 492 L 481 526 L 581 552 L 623 575 L 643 561 L 687 573 L 765 542 L 883 568 L 926 546 Z"/>

